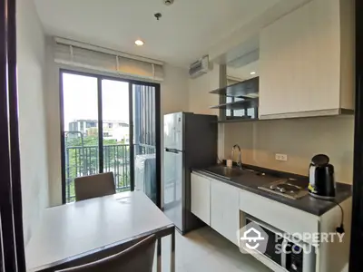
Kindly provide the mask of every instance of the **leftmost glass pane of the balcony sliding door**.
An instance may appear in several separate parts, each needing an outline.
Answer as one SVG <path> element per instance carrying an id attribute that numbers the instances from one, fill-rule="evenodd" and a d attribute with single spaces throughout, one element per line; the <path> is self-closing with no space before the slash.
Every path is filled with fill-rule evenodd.
<path id="1" fill-rule="evenodd" d="M 74 201 L 74 178 L 99 172 L 97 79 L 63 73 L 62 80 L 65 197 L 70 202 Z"/>

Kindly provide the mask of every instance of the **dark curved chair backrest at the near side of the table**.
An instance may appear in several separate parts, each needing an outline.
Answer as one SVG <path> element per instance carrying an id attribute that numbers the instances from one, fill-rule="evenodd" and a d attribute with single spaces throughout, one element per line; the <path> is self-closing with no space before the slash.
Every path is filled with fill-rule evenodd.
<path id="1" fill-rule="evenodd" d="M 152 272 L 155 241 L 152 235 L 111 257 L 56 272 Z"/>

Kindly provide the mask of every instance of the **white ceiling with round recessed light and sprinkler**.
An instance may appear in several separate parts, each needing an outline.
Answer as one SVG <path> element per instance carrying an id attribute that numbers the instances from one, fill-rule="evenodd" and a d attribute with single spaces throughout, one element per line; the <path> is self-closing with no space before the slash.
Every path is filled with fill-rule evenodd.
<path id="1" fill-rule="evenodd" d="M 188 66 L 280 0 L 34 1 L 46 34 Z M 139 38 L 142 47 L 134 44 Z"/>

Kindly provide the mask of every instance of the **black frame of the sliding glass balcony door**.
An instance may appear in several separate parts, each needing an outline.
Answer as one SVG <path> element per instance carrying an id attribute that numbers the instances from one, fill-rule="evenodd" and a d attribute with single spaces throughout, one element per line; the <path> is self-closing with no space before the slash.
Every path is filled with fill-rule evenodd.
<path id="1" fill-rule="evenodd" d="M 98 109 L 102 109 L 102 80 L 112 80 L 117 82 L 129 83 L 129 126 L 130 126 L 130 187 L 134 190 L 134 142 L 133 142 L 133 105 L 132 105 L 132 85 L 144 85 L 155 88 L 155 156 L 156 156 L 156 205 L 161 208 L 162 205 L 162 131 L 161 131 L 161 85 L 160 83 L 148 83 L 133 79 L 121 78 L 100 73 L 88 73 L 72 70 L 68 68 L 59 68 L 59 102 L 60 102 L 60 125 L 61 125 L 61 164 L 62 164 L 62 202 L 65 204 L 65 139 L 64 139 L 64 93 L 63 93 L 63 73 L 89 76 L 97 79 L 97 98 Z M 99 170 L 103 172 L 103 124 L 102 111 L 98 112 L 98 138 L 99 138 Z"/>

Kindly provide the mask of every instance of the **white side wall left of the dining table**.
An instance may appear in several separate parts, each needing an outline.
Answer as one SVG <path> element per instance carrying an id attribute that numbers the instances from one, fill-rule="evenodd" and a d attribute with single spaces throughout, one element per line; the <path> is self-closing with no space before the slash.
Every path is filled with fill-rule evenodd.
<path id="1" fill-rule="evenodd" d="M 25 244 L 48 206 L 44 32 L 33 1 L 16 2 L 19 138 Z"/>

